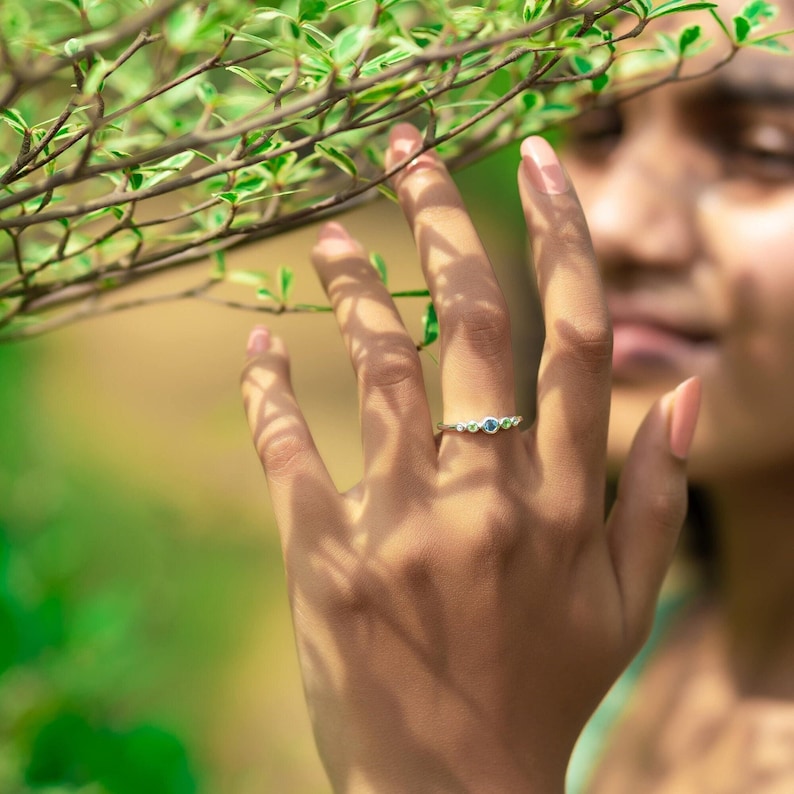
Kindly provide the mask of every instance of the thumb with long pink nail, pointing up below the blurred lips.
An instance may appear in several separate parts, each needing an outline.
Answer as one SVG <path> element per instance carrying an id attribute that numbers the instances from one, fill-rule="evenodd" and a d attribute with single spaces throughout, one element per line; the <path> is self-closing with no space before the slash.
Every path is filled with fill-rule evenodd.
<path id="1" fill-rule="evenodd" d="M 626 626 L 638 643 L 650 631 L 686 514 L 685 458 L 699 405 L 700 381 L 691 378 L 653 406 L 637 431 L 607 522 Z"/>

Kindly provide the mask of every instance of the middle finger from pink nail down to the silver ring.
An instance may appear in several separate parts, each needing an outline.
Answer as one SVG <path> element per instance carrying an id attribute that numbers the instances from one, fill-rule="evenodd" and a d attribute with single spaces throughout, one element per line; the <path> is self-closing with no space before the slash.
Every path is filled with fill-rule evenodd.
<path id="1" fill-rule="evenodd" d="M 422 145 L 419 131 L 392 131 L 389 166 Z M 396 179 L 439 319 L 444 422 L 510 415 L 515 387 L 507 305 L 460 193 L 432 152 Z"/>

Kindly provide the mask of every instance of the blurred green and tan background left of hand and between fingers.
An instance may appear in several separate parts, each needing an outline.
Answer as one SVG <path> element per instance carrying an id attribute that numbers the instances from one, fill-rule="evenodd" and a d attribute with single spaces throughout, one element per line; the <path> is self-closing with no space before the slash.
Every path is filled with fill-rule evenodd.
<path id="1" fill-rule="evenodd" d="M 512 307 L 521 409 L 537 345 L 515 148 L 459 182 Z M 342 218 L 395 290 L 421 285 L 385 201 Z M 230 267 L 296 271 L 316 228 Z M 195 283 L 180 271 L 141 288 Z M 401 304 L 416 338 L 424 301 Z M 354 379 L 330 315 L 172 303 L 0 346 L 0 792 L 327 792 L 305 712 L 278 536 L 238 391 L 267 322 L 340 489 L 360 475 Z M 438 417 L 437 370 L 425 357 Z"/>

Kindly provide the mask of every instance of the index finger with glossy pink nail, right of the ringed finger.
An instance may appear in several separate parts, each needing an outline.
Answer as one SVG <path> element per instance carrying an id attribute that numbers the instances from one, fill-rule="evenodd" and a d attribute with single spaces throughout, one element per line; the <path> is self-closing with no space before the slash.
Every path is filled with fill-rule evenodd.
<path id="1" fill-rule="evenodd" d="M 518 184 L 543 305 L 546 341 L 538 373 L 537 451 L 566 486 L 579 472 L 600 489 L 609 418 L 612 333 L 590 235 L 576 193 L 551 146 L 521 146 Z M 549 468 L 553 467 L 553 471 Z M 585 500 L 593 494 L 583 492 Z"/>

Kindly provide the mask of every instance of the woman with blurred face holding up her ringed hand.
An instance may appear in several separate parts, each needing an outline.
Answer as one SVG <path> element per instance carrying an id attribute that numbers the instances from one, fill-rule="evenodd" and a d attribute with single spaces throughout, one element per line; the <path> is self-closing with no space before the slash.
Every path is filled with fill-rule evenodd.
<path id="1" fill-rule="evenodd" d="M 782 16 L 794 26 L 790 4 Z M 441 433 L 413 342 L 341 225 L 313 262 L 359 381 L 351 491 L 317 454 L 282 342 L 252 333 L 243 391 L 335 790 L 563 791 L 577 736 L 647 637 L 687 463 L 714 506 L 719 588 L 656 651 L 593 789 L 794 788 L 792 97 L 791 63 L 748 51 L 583 119 L 572 180 L 524 142 L 546 343 L 523 433 L 517 417 L 485 432 L 515 413 L 507 310 L 407 125 L 388 159 L 411 160 L 396 188 L 441 323 Z M 458 432 L 469 421 L 480 430 Z"/>

